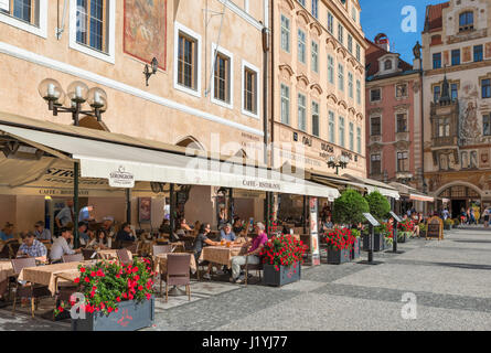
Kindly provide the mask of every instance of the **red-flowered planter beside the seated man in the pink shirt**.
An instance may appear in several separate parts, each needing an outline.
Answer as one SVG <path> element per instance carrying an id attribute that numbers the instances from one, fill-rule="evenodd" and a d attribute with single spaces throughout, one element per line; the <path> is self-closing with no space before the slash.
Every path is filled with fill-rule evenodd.
<path id="1" fill-rule="evenodd" d="M 263 282 L 281 287 L 300 280 L 303 243 L 289 234 L 275 236 L 260 252 L 264 264 Z"/>

